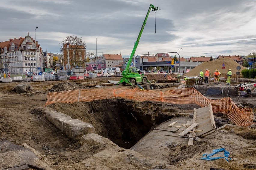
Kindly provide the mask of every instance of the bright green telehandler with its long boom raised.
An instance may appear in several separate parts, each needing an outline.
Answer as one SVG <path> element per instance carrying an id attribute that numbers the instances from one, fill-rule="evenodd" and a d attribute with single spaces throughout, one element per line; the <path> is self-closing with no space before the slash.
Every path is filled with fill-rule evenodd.
<path id="1" fill-rule="evenodd" d="M 156 10 L 158 10 L 158 7 L 154 7 L 154 5 L 150 4 L 149 9 L 148 9 L 148 13 L 147 13 L 147 15 L 145 17 L 145 20 L 144 20 L 144 22 L 142 24 L 142 27 L 141 27 L 141 30 L 139 32 L 139 36 L 138 36 L 136 42 L 134 43 L 133 51 L 132 51 L 132 53 L 130 55 L 130 58 L 129 58 L 128 62 L 127 62 L 126 68 L 122 72 L 123 73 L 123 77 L 118 82 L 118 84 L 121 83 L 123 85 L 126 85 L 127 83 L 129 83 L 131 86 L 134 86 L 136 83 L 146 84 L 147 82 L 149 82 L 147 80 L 147 77 L 143 73 L 139 74 L 137 68 L 130 67 L 130 66 L 131 66 L 131 63 L 132 63 L 133 55 L 135 54 L 135 51 L 136 51 L 136 49 L 138 47 L 139 39 L 140 39 L 140 37 L 142 35 L 143 29 L 144 29 L 144 27 L 146 25 L 146 21 L 148 19 L 148 15 L 149 15 L 151 9 L 152 9 L 152 11 L 156 11 Z"/>

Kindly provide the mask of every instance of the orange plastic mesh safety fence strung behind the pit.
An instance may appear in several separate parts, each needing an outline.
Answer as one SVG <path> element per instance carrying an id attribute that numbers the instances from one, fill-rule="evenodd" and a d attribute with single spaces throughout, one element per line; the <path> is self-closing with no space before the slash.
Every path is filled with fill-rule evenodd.
<path id="1" fill-rule="evenodd" d="M 214 113 L 227 114 L 230 120 L 239 126 L 254 124 L 252 109 L 241 109 L 231 98 L 211 100 L 204 97 L 194 88 L 174 89 L 168 91 L 139 90 L 139 89 L 77 89 L 63 92 L 53 92 L 47 95 L 46 106 L 52 103 L 74 103 L 77 101 L 93 101 L 120 97 L 136 101 L 161 101 L 172 104 L 195 103 L 201 107 L 212 104 Z"/>

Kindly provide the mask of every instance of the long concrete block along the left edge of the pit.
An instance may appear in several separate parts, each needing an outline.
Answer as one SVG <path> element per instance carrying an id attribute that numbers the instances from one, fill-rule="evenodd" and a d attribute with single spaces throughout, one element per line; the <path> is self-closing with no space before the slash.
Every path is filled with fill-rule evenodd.
<path id="1" fill-rule="evenodd" d="M 95 133 L 93 125 L 79 119 L 72 119 L 69 115 L 57 112 L 48 107 L 38 108 L 33 113 L 43 113 L 53 125 L 58 127 L 69 138 L 79 141 L 87 133 Z"/>

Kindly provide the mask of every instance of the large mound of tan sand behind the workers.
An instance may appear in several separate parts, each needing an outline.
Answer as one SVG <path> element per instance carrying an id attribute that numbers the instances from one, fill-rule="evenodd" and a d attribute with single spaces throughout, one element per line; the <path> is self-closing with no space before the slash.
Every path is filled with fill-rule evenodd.
<path id="1" fill-rule="evenodd" d="M 225 63 L 225 69 L 222 69 L 222 63 Z M 245 69 L 245 67 L 239 65 L 238 63 L 236 63 L 234 60 L 232 60 L 230 58 L 224 58 L 224 60 L 223 60 L 223 58 L 220 58 L 217 60 L 204 62 L 204 63 L 196 66 L 194 69 L 190 70 L 190 72 L 188 72 L 186 75 L 187 76 L 198 75 L 198 74 L 200 74 L 200 70 L 203 70 L 203 72 L 205 73 L 205 69 L 209 69 L 211 74 L 213 74 L 216 69 L 218 69 L 219 72 L 221 72 L 221 74 L 223 74 L 223 73 L 227 74 L 228 69 L 231 69 L 231 72 L 233 74 L 235 74 L 238 71 L 236 69 L 237 66 L 241 67 L 241 70 L 239 70 L 239 72 L 241 72 L 243 69 Z"/>

